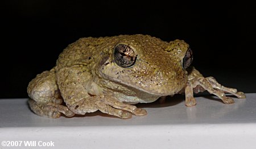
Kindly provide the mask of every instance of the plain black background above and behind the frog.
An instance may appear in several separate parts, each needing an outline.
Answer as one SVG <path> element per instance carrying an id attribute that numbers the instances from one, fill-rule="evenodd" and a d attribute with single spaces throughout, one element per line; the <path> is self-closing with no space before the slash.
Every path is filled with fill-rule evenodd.
<path id="1" fill-rule="evenodd" d="M 82 37 L 148 34 L 183 39 L 204 76 L 255 93 L 255 5 L 245 1 L 7 1 L 1 9 L 0 98 L 26 98 L 28 82 Z"/>

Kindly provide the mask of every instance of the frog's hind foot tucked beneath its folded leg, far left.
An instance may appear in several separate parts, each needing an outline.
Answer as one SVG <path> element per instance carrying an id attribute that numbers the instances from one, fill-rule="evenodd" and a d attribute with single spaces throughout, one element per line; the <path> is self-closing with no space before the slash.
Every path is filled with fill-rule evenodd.
<path id="1" fill-rule="evenodd" d="M 75 113 L 69 110 L 67 106 L 59 105 L 53 102 L 44 103 L 29 99 L 28 104 L 30 105 L 30 109 L 34 111 L 35 114 L 42 117 L 59 118 L 61 113 L 67 117 L 73 117 L 73 115 L 75 115 Z"/>

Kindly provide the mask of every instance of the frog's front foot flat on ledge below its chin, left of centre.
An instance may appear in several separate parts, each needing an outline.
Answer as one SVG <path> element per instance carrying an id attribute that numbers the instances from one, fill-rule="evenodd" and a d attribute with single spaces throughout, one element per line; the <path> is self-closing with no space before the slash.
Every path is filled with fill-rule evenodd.
<path id="1" fill-rule="evenodd" d="M 123 119 L 131 118 L 131 113 L 139 116 L 147 114 L 147 111 L 144 109 L 139 109 L 133 105 L 123 104 L 114 97 L 108 95 L 87 97 L 70 106 L 70 109 L 76 114 L 85 114 L 100 110 L 102 113 L 115 115 Z"/>

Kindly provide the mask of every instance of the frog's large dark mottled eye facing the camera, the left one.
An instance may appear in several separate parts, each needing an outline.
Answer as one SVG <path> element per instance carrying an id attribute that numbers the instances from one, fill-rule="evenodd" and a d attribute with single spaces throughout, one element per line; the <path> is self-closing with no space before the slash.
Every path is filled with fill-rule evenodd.
<path id="1" fill-rule="evenodd" d="M 137 59 L 137 55 L 133 49 L 125 44 L 118 44 L 113 53 L 115 63 L 123 68 L 133 66 Z"/>

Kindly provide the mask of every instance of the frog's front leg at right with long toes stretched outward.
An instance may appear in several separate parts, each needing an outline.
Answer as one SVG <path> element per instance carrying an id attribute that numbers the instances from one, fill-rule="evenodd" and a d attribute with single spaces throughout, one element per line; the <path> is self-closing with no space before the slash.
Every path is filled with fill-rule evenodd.
<path id="1" fill-rule="evenodd" d="M 234 101 L 230 97 L 226 97 L 225 93 L 231 93 L 238 98 L 245 98 L 243 92 L 237 92 L 237 89 L 226 88 L 219 84 L 213 77 L 203 77 L 194 67 L 189 70 L 188 81 L 185 85 L 185 105 L 194 106 L 196 100 L 193 98 L 193 92 L 203 92 L 207 90 L 209 93 L 219 97 L 225 104 L 233 104 Z"/>

